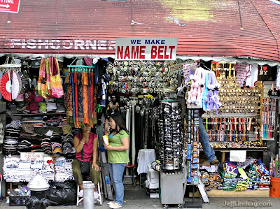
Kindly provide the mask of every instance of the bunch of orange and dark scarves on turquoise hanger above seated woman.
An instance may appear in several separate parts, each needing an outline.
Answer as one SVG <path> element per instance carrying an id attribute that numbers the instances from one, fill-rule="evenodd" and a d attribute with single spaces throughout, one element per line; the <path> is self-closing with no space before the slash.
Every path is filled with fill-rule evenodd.
<path id="1" fill-rule="evenodd" d="M 74 59 L 73 62 L 75 62 Z M 73 64 L 72 62 L 72 64 Z M 73 127 L 92 127 L 97 123 L 97 87 L 94 85 L 94 66 L 69 65 L 66 85 L 66 118 Z"/>

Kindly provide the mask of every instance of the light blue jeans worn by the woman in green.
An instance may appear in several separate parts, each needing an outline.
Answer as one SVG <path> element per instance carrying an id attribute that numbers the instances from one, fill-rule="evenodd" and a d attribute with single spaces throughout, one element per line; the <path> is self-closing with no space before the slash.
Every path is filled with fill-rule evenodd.
<path id="1" fill-rule="evenodd" d="M 114 202 L 118 203 L 120 206 L 123 206 L 123 172 L 125 171 L 126 164 L 110 164 L 109 163 L 109 172 L 113 186 L 115 188 L 115 198 Z"/>

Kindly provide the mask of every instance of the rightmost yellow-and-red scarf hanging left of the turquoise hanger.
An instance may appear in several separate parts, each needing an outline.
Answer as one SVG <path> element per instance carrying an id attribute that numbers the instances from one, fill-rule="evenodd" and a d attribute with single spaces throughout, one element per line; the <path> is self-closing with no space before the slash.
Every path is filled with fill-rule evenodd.
<path id="1" fill-rule="evenodd" d="M 62 88 L 62 80 L 60 78 L 58 62 L 55 57 L 50 57 L 50 87 L 52 97 L 60 98 L 64 95 Z"/>

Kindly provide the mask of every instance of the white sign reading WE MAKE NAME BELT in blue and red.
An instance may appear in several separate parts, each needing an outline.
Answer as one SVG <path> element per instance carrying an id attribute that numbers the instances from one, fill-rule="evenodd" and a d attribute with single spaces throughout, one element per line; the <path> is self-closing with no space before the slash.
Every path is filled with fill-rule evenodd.
<path id="1" fill-rule="evenodd" d="M 175 60 L 178 38 L 116 38 L 116 60 Z"/>

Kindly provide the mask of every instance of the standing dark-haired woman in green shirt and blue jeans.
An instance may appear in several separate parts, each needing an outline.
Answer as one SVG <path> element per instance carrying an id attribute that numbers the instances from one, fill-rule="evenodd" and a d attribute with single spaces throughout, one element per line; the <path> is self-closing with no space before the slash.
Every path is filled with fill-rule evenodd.
<path id="1" fill-rule="evenodd" d="M 115 188 L 115 198 L 113 202 L 109 203 L 110 208 L 123 207 L 123 172 L 125 165 L 130 161 L 127 150 L 130 147 L 130 139 L 123 117 L 116 113 L 109 119 L 111 127 L 105 131 L 109 135 L 109 145 L 104 144 L 108 150 L 109 172 L 111 180 Z M 111 129 L 111 131 L 110 131 Z"/>

